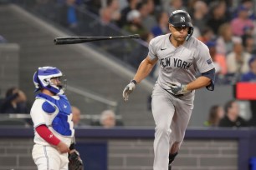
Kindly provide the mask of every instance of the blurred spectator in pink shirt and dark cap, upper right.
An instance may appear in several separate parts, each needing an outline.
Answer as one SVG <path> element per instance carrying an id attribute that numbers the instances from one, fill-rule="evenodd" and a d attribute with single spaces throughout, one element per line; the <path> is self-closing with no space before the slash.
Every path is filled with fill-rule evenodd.
<path id="1" fill-rule="evenodd" d="M 248 18 L 248 8 L 240 6 L 238 8 L 238 18 L 231 21 L 232 32 L 235 36 L 243 36 L 246 30 L 253 29 L 253 21 Z"/>

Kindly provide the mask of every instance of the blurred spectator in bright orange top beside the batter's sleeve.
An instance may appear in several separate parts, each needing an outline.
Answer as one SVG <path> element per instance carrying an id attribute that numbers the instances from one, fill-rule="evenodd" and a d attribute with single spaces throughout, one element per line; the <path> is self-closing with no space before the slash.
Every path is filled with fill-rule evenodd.
<path id="1" fill-rule="evenodd" d="M 223 54 L 217 52 L 215 41 L 208 41 L 206 42 L 206 45 L 209 48 L 209 52 L 212 57 L 212 62 L 214 63 L 215 66 L 216 75 L 224 76 L 227 73 L 226 57 Z"/>

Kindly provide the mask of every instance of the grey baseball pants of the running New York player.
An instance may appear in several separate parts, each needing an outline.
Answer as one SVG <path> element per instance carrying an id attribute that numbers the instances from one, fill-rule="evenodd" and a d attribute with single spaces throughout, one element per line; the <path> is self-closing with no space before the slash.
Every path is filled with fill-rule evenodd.
<path id="1" fill-rule="evenodd" d="M 180 148 L 192 114 L 194 92 L 174 97 L 156 85 L 152 93 L 152 114 L 156 123 L 154 170 L 168 169 L 168 156 L 173 143 Z"/>

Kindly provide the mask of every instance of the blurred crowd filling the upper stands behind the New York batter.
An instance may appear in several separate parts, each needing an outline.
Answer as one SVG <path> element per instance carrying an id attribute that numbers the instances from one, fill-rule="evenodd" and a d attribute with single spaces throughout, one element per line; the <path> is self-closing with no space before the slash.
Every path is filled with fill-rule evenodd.
<path id="1" fill-rule="evenodd" d="M 210 48 L 218 73 L 216 82 L 222 84 L 237 82 L 252 71 L 249 60 L 256 54 L 254 3 L 253 0 L 84 1 L 102 23 L 138 33 L 146 42 L 169 32 L 168 16 L 173 11 L 186 10 L 192 17 L 193 36 Z"/>

